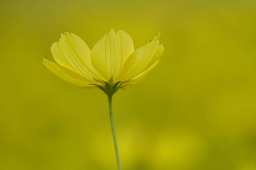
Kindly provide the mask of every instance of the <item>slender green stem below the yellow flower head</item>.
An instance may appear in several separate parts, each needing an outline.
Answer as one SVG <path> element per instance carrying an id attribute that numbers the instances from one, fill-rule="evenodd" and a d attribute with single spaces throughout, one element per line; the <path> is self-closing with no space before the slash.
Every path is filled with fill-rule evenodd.
<path id="1" fill-rule="evenodd" d="M 110 122 L 111 122 L 112 134 L 113 134 L 114 145 L 115 145 L 115 152 L 116 152 L 116 162 L 117 162 L 118 170 L 122 170 L 121 162 L 120 162 L 120 157 L 119 157 L 119 152 L 118 152 L 117 141 L 116 141 L 115 124 L 114 124 L 114 119 L 113 119 L 112 94 L 108 95 L 108 104 L 109 104 L 109 116 L 110 116 Z"/>

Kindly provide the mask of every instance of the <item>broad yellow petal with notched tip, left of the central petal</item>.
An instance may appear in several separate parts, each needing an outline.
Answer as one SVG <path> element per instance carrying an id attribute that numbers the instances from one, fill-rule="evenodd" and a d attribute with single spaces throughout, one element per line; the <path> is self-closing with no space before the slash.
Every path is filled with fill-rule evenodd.
<path id="1" fill-rule="evenodd" d="M 66 32 L 54 43 L 51 48 L 52 55 L 61 66 L 84 76 L 88 80 L 102 80 L 102 76 L 92 66 L 91 50 L 83 39 L 76 34 Z"/>

